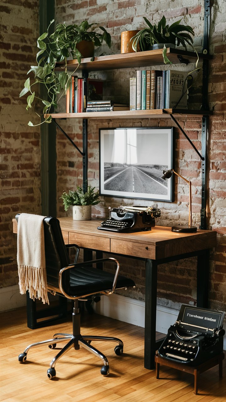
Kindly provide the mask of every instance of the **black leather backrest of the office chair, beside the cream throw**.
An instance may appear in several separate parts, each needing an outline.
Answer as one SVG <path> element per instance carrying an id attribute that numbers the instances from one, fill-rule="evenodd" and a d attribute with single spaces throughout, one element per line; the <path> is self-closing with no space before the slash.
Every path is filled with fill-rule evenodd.
<path id="1" fill-rule="evenodd" d="M 18 213 L 16 215 L 17 222 L 19 216 L 20 214 Z M 47 273 L 47 284 L 58 287 L 59 272 L 63 267 L 67 267 L 70 263 L 68 252 L 64 244 L 59 220 L 55 217 L 48 216 L 43 219 L 43 225 L 45 236 L 45 264 Z M 69 284 L 69 279 L 66 279 L 68 279 L 67 275 L 65 275 L 65 283 Z"/>

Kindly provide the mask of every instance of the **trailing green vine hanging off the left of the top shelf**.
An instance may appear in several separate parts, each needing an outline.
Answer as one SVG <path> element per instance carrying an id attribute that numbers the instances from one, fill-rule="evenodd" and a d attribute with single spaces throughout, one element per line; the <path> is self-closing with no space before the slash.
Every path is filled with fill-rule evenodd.
<path id="1" fill-rule="evenodd" d="M 51 21 L 49 27 L 53 22 L 54 20 Z M 61 96 L 66 94 L 66 90 L 70 86 L 71 76 L 76 70 L 68 73 L 67 58 L 77 59 L 78 66 L 81 63 L 82 54 L 76 45 L 85 40 L 94 42 L 95 46 L 98 47 L 105 41 L 111 47 L 111 35 L 106 29 L 97 24 L 89 24 L 88 21 L 82 21 L 80 25 L 58 24 L 51 34 L 49 34 L 49 27 L 47 32 L 37 39 L 37 47 L 39 48 L 36 55 L 37 66 L 31 66 L 27 73 L 33 72 L 35 82 L 31 83 L 30 78 L 28 78 L 20 93 L 20 97 L 29 94 L 27 96 L 27 110 L 32 107 L 35 98 L 41 101 L 44 104 L 43 115 L 51 113 L 51 109 L 57 108 Z M 103 33 L 96 32 L 97 28 Z M 64 71 L 57 71 L 55 69 L 56 64 L 62 61 L 65 62 Z M 46 88 L 45 99 L 35 95 L 34 86 L 39 85 Z M 51 116 L 45 118 L 42 123 L 44 122 L 51 123 Z M 29 121 L 28 125 L 33 126 L 33 123 Z"/>

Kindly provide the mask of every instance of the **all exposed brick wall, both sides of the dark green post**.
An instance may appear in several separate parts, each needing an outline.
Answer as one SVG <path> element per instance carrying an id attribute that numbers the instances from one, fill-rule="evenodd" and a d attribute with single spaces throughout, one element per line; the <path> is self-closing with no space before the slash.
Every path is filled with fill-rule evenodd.
<path id="1" fill-rule="evenodd" d="M 25 98 L 18 98 L 23 88 L 27 71 L 35 63 L 36 39 L 38 37 L 38 1 L 27 0 L 2 2 L 2 34 L 1 47 L 1 125 L 2 125 L 2 192 L 1 192 L 1 258 L 2 285 L 8 286 L 18 282 L 16 276 L 16 244 L 12 235 L 12 217 L 17 212 L 27 211 L 40 213 L 40 136 L 38 127 L 27 126 L 32 118 L 25 109 Z M 226 310 L 226 222 L 225 222 L 225 186 L 226 171 L 225 146 L 225 2 L 220 0 L 212 9 L 210 27 L 210 52 L 214 59 L 210 62 L 209 102 L 214 108 L 214 116 L 210 118 L 208 138 L 208 218 L 209 229 L 218 233 L 218 245 L 210 255 L 210 307 Z M 183 17 L 185 24 L 195 30 L 194 44 L 197 50 L 202 47 L 203 32 L 203 1 L 192 0 L 189 6 L 180 0 L 166 2 L 147 2 L 145 0 L 56 0 L 56 21 L 80 23 L 85 18 L 89 23 L 99 23 L 108 28 L 112 36 L 112 47 L 103 45 L 97 55 L 120 53 L 121 31 L 139 29 L 144 26 L 143 16 L 151 22 L 158 21 L 165 15 L 169 23 Z M 18 18 L 19 17 L 19 18 Z M 192 68 L 193 66 L 191 66 Z M 158 68 L 157 66 L 155 68 Z M 162 68 L 162 67 L 160 67 Z M 167 67 L 164 67 L 167 68 Z M 181 66 L 173 66 L 182 69 Z M 109 70 L 95 72 L 92 76 L 106 80 L 105 98 L 115 94 L 115 101 L 128 100 L 129 77 L 134 76 L 135 69 Z M 198 87 L 200 77 L 197 78 Z M 197 97 L 198 95 L 198 97 Z M 198 99 L 198 102 L 197 102 Z M 199 88 L 193 91 L 192 102 L 200 103 Z M 64 108 L 64 105 L 61 105 Z M 32 114 L 34 116 L 34 114 Z M 201 119 L 187 117 L 180 120 L 181 126 L 195 146 L 201 151 Z M 82 121 L 61 121 L 62 127 L 76 144 L 82 148 Z M 99 187 L 99 129 L 105 127 L 162 127 L 172 126 L 169 119 L 138 119 L 138 120 L 95 120 L 88 123 L 88 180 L 91 185 Z M 62 200 L 63 191 L 74 189 L 82 184 L 82 159 L 60 132 L 57 134 L 57 194 L 58 215 L 64 216 Z M 175 170 L 192 181 L 193 224 L 200 224 L 201 208 L 201 162 L 183 134 L 176 129 Z M 125 203 L 136 200 L 123 200 Z M 109 205 L 121 203 L 121 199 L 103 197 L 96 207 L 93 207 L 93 217 L 107 215 Z M 175 178 L 175 202 L 140 202 L 158 206 L 161 218 L 156 224 L 172 226 L 178 221 L 187 222 L 188 186 L 183 180 Z M 137 260 L 121 258 L 121 272 L 131 275 L 137 284 L 136 291 L 127 295 L 144 299 L 145 272 L 144 264 Z M 132 270 L 131 270 L 131 267 Z M 158 275 L 158 303 L 178 308 L 182 302 L 195 303 L 196 258 L 189 258 L 161 265 Z M 177 283 L 177 286 L 175 285 Z M 182 296 L 183 295 L 183 296 Z"/>

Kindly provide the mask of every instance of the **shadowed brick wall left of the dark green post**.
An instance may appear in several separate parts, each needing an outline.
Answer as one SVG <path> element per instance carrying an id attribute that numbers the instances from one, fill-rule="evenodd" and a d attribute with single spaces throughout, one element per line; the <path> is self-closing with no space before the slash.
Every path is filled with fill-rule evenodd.
<path id="1" fill-rule="evenodd" d="M 12 218 L 20 212 L 41 212 L 39 127 L 27 125 L 31 117 L 26 111 L 26 97 L 19 98 L 27 72 L 35 64 L 38 5 L 37 0 L 3 0 L 0 6 L 0 278 L 3 287 L 18 283 Z"/>

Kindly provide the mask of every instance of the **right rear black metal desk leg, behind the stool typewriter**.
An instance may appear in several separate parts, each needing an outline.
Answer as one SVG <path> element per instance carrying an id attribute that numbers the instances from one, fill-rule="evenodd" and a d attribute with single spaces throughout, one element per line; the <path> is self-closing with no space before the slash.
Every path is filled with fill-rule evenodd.
<path id="1" fill-rule="evenodd" d="M 197 307 L 208 307 L 209 250 L 197 256 Z"/>

